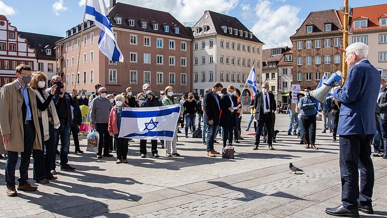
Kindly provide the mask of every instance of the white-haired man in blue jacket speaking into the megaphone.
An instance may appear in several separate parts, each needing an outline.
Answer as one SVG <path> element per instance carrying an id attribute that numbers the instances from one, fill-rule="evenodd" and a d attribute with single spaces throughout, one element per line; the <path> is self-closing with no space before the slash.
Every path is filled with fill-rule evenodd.
<path id="1" fill-rule="evenodd" d="M 341 101 L 338 134 L 342 204 L 327 208 L 326 212 L 336 216 L 359 217 L 359 210 L 373 213 L 371 197 L 374 170 L 369 142 L 375 133 L 374 105 L 381 78 L 380 73 L 366 59 L 366 44 L 353 43 L 347 47 L 346 53 L 345 61 L 350 71 L 343 88 L 334 89 L 334 97 Z"/>

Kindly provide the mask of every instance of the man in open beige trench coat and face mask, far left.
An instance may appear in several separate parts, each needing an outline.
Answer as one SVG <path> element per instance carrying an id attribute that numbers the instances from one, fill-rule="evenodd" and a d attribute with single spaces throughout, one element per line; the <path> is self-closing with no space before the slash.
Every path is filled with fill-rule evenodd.
<path id="1" fill-rule="evenodd" d="M 28 182 L 32 149 L 42 149 L 36 96 L 27 85 L 31 81 L 31 75 L 29 66 L 19 65 L 16 68 L 17 79 L 0 90 L 0 129 L 3 135 L 0 141 L 8 151 L 5 175 L 8 196 L 17 195 L 15 169 L 19 152 L 18 190 L 37 190 L 37 187 Z"/>

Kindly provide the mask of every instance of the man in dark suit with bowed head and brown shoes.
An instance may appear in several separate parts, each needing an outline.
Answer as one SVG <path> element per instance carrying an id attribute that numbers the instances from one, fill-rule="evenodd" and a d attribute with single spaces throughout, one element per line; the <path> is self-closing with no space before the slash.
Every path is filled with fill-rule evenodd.
<path id="1" fill-rule="evenodd" d="M 223 85 L 220 82 L 216 82 L 211 91 L 207 92 L 204 97 L 204 122 L 207 124 L 207 156 L 215 157 L 215 154 L 219 154 L 214 149 L 214 141 L 216 134 L 218 133 L 219 117 L 220 117 L 220 91 Z"/>

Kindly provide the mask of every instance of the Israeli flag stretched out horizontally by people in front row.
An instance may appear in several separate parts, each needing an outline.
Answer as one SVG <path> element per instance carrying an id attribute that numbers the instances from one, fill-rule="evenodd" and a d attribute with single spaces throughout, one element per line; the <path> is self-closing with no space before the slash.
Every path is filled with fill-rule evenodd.
<path id="1" fill-rule="evenodd" d="M 180 104 L 159 107 L 125 107 L 118 137 L 172 141 L 180 116 Z"/>

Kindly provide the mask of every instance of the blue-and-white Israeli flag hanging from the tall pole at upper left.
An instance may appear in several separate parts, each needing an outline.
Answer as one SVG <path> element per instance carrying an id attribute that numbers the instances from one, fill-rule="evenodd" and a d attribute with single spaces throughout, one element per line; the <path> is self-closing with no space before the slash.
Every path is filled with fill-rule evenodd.
<path id="1" fill-rule="evenodd" d="M 123 62 L 122 52 L 119 50 L 113 31 L 111 30 L 111 22 L 106 10 L 105 1 L 87 0 L 85 19 L 94 21 L 95 25 L 101 29 L 98 39 L 99 50 L 110 61 Z"/>

